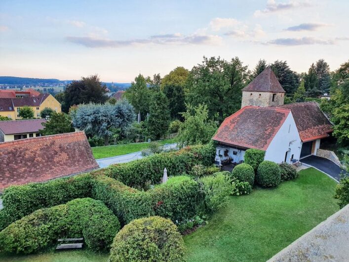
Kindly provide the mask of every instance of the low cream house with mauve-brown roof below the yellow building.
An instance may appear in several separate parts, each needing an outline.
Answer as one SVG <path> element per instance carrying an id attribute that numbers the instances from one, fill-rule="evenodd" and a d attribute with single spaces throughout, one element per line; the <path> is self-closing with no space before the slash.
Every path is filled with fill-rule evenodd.
<path id="1" fill-rule="evenodd" d="M 40 136 L 45 119 L 0 121 L 0 142 Z"/>

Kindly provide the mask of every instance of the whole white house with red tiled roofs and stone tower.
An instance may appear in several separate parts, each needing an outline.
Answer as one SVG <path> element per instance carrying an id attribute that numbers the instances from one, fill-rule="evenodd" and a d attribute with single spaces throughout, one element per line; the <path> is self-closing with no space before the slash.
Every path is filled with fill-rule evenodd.
<path id="1" fill-rule="evenodd" d="M 213 140 L 217 165 L 239 163 L 249 148 L 266 152 L 265 160 L 292 163 L 316 155 L 321 138 L 333 131 L 315 102 L 284 105 L 285 90 L 271 67 L 242 89 L 241 109 L 226 118 Z"/>

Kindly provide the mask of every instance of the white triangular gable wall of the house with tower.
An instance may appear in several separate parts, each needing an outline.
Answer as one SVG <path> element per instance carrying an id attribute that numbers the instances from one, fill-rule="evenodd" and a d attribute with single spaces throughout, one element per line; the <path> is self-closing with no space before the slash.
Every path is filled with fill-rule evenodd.
<path id="1" fill-rule="evenodd" d="M 291 141 L 293 142 L 290 144 Z M 276 135 L 271 140 L 264 159 L 281 163 L 285 160 L 286 151 L 290 149 L 286 160 L 287 163 L 290 163 L 292 155 L 294 155 L 294 159 L 299 159 L 301 146 L 301 137 L 299 136 L 296 123 L 290 112 L 279 131 L 277 131 Z"/>

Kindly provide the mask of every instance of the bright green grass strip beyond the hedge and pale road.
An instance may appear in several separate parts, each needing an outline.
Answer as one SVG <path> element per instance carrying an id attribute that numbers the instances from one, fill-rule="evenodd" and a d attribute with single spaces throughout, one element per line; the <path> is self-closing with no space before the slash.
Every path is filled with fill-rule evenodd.
<path id="1" fill-rule="evenodd" d="M 165 139 L 158 141 L 159 144 L 170 144 L 174 143 L 174 139 Z M 120 156 L 124 154 L 134 153 L 142 151 L 148 148 L 148 143 L 132 143 L 124 145 L 108 145 L 108 146 L 96 146 L 91 147 L 92 153 L 95 159 Z"/>

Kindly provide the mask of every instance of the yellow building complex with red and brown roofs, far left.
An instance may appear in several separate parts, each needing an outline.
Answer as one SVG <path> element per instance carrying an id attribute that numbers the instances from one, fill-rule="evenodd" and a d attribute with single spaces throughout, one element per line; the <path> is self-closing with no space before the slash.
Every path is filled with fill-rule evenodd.
<path id="1" fill-rule="evenodd" d="M 61 104 L 51 94 L 40 93 L 31 88 L 25 91 L 0 90 L 0 116 L 12 120 L 21 119 L 19 110 L 24 106 L 31 107 L 36 118 L 40 117 L 40 112 L 45 107 L 61 112 Z"/>

